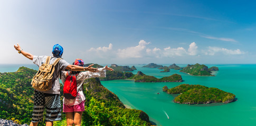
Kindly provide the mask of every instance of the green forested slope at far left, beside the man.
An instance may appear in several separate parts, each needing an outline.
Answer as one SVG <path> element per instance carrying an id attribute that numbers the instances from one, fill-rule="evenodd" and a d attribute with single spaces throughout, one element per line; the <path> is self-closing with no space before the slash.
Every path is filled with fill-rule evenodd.
<path id="1" fill-rule="evenodd" d="M 16 72 L 0 73 L 0 118 L 30 123 L 33 111 L 31 79 L 36 70 L 20 67 Z"/>

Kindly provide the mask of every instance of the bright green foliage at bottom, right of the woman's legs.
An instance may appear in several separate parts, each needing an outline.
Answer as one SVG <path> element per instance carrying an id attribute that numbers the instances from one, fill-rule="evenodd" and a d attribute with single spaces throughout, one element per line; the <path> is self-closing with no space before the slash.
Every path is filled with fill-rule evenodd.
<path id="1" fill-rule="evenodd" d="M 143 111 L 106 107 L 104 102 L 91 98 L 89 106 L 83 112 L 82 125 L 150 125 L 141 119 Z"/>

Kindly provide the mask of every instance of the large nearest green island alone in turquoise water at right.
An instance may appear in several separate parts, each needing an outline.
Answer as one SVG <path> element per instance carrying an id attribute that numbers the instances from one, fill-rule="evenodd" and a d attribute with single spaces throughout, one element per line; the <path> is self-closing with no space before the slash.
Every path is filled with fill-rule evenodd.
<path id="1" fill-rule="evenodd" d="M 183 84 L 171 89 L 164 86 L 163 91 L 169 94 L 179 94 L 174 98 L 174 102 L 182 104 L 229 103 L 235 101 L 233 93 L 201 85 Z"/>

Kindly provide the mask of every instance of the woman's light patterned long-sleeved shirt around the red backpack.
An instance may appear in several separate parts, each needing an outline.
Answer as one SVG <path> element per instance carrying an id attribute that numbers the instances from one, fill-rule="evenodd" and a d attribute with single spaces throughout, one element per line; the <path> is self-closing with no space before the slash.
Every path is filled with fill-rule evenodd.
<path id="1" fill-rule="evenodd" d="M 90 71 L 85 71 L 85 72 L 80 72 L 77 75 L 77 97 L 74 99 L 66 99 L 63 98 L 63 103 L 67 106 L 74 106 L 77 104 L 80 104 L 82 101 L 86 100 L 86 97 L 83 95 L 83 81 L 88 79 L 88 78 L 95 78 L 95 77 L 106 77 L 106 68 L 99 68 L 99 72 L 90 72 Z M 61 81 L 65 82 L 67 78 L 67 71 L 61 71 Z"/>

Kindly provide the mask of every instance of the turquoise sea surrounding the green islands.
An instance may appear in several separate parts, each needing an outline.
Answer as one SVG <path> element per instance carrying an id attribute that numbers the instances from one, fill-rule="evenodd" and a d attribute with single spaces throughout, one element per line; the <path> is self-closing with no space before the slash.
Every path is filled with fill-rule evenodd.
<path id="1" fill-rule="evenodd" d="M 14 72 L 20 66 L 38 69 L 36 65 L 0 65 L 0 72 Z M 162 70 L 157 68 L 142 66 L 135 65 L 137 70 L 133 73 L 142 71 L 157 78 L 179 74 L 184 81 L 139 83 L 133 80 L 111 80 L 101 83 L 126 106 L 146 112 L 150 121 L 156 125 L 256 125 L 256 65 L 206 65 L 208 68 L 219 67 L 220 71 L 215 72 L 214 77 L 190 76 L 178 70 L 160 72 Z M 172 88 L 183 83 L 219 88 L 233 93 L 237 101 L 227 104 L 177 104 L 173 102 L 174 96 L 162 91 L 164 86 Z"/>

